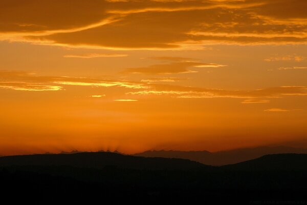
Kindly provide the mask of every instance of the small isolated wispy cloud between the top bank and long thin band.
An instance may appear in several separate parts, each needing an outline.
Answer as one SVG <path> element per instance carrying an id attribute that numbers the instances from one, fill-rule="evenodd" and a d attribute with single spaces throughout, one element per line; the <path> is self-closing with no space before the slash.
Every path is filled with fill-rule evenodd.
<path id="1" fill-rule="evenodd" d="M 163 74 L 178 74 L 178 73 L 197 73 L 197 70 L 190 70 L 189 67 L 194 68 L 220 68 L 226 65 L 219 64 L 206 64 L 201 63 L 191 58 L 179 58 L 179 57 L 155 57 L 159 60 L 170 60 L 168 64 L 156 64 L 148 67 L 140 68 L 127 68 L 121 73 L 123 74 L 148 74 L 148 75 L 163 75 Z"/>

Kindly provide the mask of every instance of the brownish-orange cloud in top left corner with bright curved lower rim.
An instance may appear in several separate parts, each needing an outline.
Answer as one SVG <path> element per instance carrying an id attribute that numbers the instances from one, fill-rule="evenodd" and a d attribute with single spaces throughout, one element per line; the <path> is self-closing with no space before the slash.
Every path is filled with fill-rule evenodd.
<path id="1" fill-rule="evenodd" d="M 74 31 L 110 17 L 105 6 L 104 1 L 99 0 L 90 0 L 86 3 L 81 0 L 73 3 L 52 0 L 2 0 L 0 31 L 37 34 L 48 31 Z"/>

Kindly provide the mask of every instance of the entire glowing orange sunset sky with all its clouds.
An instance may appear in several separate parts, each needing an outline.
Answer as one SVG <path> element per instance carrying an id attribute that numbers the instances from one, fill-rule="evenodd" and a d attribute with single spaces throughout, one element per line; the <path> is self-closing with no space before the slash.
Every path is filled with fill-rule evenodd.
<path id="1" fill-rule="evenodd" d="M 305 0 L 2 0 L 0 155 L 307 147 Z"/>

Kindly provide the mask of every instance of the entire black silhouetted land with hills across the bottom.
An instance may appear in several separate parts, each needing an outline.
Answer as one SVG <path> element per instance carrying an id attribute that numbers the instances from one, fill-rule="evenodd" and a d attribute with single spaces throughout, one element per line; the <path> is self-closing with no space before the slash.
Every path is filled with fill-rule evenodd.
<path id="1" fill-rule="evenodd" d="M 212 167 L 109 152 L 0 157 L 2 199 L 39 203 L 307 204 L 307 154 Z"/>

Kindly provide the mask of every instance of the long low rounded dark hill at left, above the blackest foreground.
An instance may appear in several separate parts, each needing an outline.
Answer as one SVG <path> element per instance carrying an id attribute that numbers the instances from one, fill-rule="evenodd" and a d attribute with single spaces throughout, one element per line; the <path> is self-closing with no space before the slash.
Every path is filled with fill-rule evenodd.
<path id="1" fill-rule="evenodd" d="M 111 152 L 83 152 L 74 154 L 35 154 L 0 157 L 0 166 L 72 166 L 102 169 L 115 166 L 124 169 L 195 169 L 209 168 L 188 159 L 137 157 Z"/>

